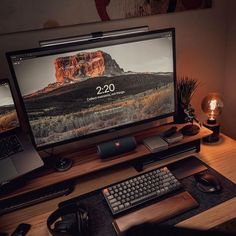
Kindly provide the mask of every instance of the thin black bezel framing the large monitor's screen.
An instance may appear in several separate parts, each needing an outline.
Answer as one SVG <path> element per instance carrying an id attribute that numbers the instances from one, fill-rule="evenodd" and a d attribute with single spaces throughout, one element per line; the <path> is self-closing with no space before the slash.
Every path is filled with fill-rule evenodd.
<path id="1" fill-rule="evenodd" d="M 26 107 L 24 104 L 24 100 L 23 100 L 23 96 L 21 94 L 19 85 L 18 85 L 18 81 L 17 81 L 17 77 L 14 71 L 14 67 L 13 67 L 13 63 L 11 58 L 14 56 L 30 56 L 31 53 L 42 53 L 42 56 L 46 56 L 46 55 L 55 55 L 55 54 L 60 54 L 60 53 L 66 53 L 66 52 L 70 52 L 70 51 L 76 51 L 76 50 L 86 50 L 86 49 L 92 49 L 92 48 L 97 48 L 97 47 L 102 47 L 102 46 L 110 46 L 110 45 L 117 45 L 117 44 L 122 44 L 122 43 L 128 43 L 128 42 L 138 42 L 141 40 L 145 40 L 145 39 L 151 39 L 151 38 L 155 38 L 156 35 L 161 34 L 161 33 L 168 33 L 171 32 L 172 35 L 172 56 L 173 56 L 173 79 L 174 79 L 174 111 L 168 114 L 164 114 L 161 116 L 157 116 L 157 117 L 152 117 L 149 119 L 145 119 L 145 120 L 141 120 L 141 121 L 137 121 L 137 122 L 133 122 L 133 123 L 129 123 L 129 124 L 124 124 L 124 125 L 120 125 L 118 127 L 110 127 L 107 128 L 105 130 L 100 130 L 97 132 L 92 132 L 90 134 L 86 134 L 83 136 L 78 136 L 72 139 L 68 139 L 68 140 L 63 140 L 63 141 L 59 141 L 59 142 L 55 142 L 55 143 L 50 143 L 50 144 L 45 144 L 45 145 L 40 145 L 38 146 L 37 143 L 35 142 L 35 138 L 34 138 L 34 134 L 29 122 L 29 118 L 28 118 L 28 114 L 26 111 Z M 39 57 L 40 55 L 38 55 L 37 57 Z M 26 125 L 27 128 L 29 130 L 29 134 L 32 140 L 32 143 L 34 145 L 34 147 L 37 150 L 43 150 L 43 149 L 47 149 L 47 148 L 52 148 L 52 147 L 56 147 L 56 146 L 60 146 L 60 145 L 64 145 L 64 144 L 68 144 L 71 142 L 75 142 L 75 141 L 79 141 L 79 140 L 85 140 L 85 139 L 89 139 L 95 136 L 100 136 L 103 134 L 108 134 L 111 132 L 116 132 L 116 131 L 120 131 L 122 129 L 126 129 L 126 128 L 130 128 L 130 127 L 135 127 L 138 125 L 142 125 L 145 123 L 150 123 L 153 121 L 158 121 L 167 117 L 173 117 L 174 115 L 176 115 L 177 113 L 177 96 L 176 96 L 176 42 L 175 42 L 175 28 L 165 28 L 165 29 L 158 29 L 158 30 L 153 30 L 153 31 L 146 31 L 146 32 L 141 32 L 141 33 L 135 33 L 132 35 L 124 35 L 124 36 L 114 36 L 114 37 L 110 37 L 110 38 L 95 38 L 95 39 L 90 39 L 88 41 L 82 41 L 79 43 L 69 43 L 69 44 L 63 44 L 63 45 L 54 45 L 54 46 L 49 46 L 49 47 L 39 47 L 39 48 L 32 48 L 32 49 L 26 49 L 26 50 L 18 50 L 18 51 L 11 51 L 11 52 L 7 52 L 6 53 L 6 57 L 7 57 L 7 61 L 8 61 L 8 65 L 10 68 L 10 72 L 12 75 L 12 79 L 14 81 L 15 84 L 15 88 L 16 88 L 16 92 L 20 101 L 20 106 L 22 108 L 23 111 L 23 115 L 24 115 L 24 119 L 26 121 Z"/>

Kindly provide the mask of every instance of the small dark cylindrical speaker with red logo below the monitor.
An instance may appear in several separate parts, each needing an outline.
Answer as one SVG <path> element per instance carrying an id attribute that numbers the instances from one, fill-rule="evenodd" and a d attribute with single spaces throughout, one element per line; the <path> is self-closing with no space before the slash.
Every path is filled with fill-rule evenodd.
<path id="1" fill-rule="evenodd" d="M 134 137 L 124 137 L 97 145 L 97 152 L 101 158 L 116 156 L 130 152 L 137 147 Z"/>

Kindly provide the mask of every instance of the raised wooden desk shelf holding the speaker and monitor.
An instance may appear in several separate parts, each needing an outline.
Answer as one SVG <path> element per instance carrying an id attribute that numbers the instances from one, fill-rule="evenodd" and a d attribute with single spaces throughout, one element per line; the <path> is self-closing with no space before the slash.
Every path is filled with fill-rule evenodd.
<path id="1" fill-rule="evenodd" d="M 75 179 L 95 171 L 100 171 L 106 168 L 112 168 L 116 165 L 121 165 L 123 163 L 133 162 L 140 158 L 144 158 L 145 156 L 149 156 L 151 153 L 142 144 L 142 140 L 146 137 L 157 135 L 158 133 L 167 130 L 170 126 L 173 125 L 160 126 L 157 128 L 146 130 L 141 133 L 135 133 L 134 136 L 138 142 L 137 148 L 132 152 L 115 156 L 113 158 L 108 158 L 104 160 L 101 159 L 96 153 L 95 146 L 91 146 L 83 150 L 73 150 L 73 152 L 68 153 L 66 155 L 67 158 L 73 160 L 73 166 L 71 169 L 65 172 L 56 172 L 52 169 L 46 169 L 46 168 L 38 170 L 36 173 L 30 176 L 30 180 L 27 180 L 27 183 L 22 188 L 20 188 L 20 190 L 16 190 L 15 192 L 8 194 L 7 198 L 25 192 L 33 191 L 39 188 L 43 188 L 45 186 L 53 185 L 58 182 L 62 182 L 64 180 Z M 178 125 L 178 128 L 181 127 L 182 125 Z M 210 130 L 201 127 L 199 134 L 194 136 L 185 136 L 182 141 L 170 145 L 169 147 L 172 148 L 180 144 L 185 144 L 195 140 L 200 140 L 201 138 L 209 134 L 211 134 Z M 6 198 L 6 196 L 1 196 L 0 200 L 4 198 Z"/>

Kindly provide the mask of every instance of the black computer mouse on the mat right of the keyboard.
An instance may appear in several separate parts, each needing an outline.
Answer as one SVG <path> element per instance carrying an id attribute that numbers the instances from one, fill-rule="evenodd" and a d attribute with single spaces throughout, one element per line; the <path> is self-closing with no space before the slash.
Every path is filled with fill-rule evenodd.
<path id="1" fill-rule="evenodd" d="M 222 189 L 220 181 L 212 174 L 197 173 L 194 175 L 197 188 L 204 193 L 215 193 Z"/>

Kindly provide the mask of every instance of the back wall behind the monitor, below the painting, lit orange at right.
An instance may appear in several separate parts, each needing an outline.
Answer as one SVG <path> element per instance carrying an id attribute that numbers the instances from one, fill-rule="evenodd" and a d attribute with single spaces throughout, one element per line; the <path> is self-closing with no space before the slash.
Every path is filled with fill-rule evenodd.
<path id="1" fill-rule="evenodd" d="M 226 42 L 226 2 L 213 1 L 212 9 L 186 11 L 128 20 L 116 20 L 60 29 L 38 30 L 0 36 L 0 78 L 10 77 L 5 52 L 37 47 L 46 39 L 148 25 L 151 30 L 175 27 L 177 75 L 200 82 L 193 106 L 200 120 L 200 102 L 208 92 L 222 92 Z M 55 10 L 55 9 L 53 9 Z"/>

